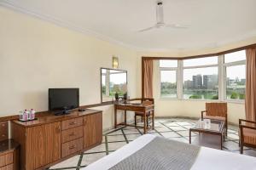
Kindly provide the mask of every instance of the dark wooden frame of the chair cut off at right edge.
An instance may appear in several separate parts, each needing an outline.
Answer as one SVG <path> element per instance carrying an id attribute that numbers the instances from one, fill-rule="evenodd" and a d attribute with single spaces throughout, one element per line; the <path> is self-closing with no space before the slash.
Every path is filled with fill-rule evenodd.
<path id="1" fill-rule="evenodd" d="M 256 144 L 248 144 L 248 143 L 245 143 L 245 142 L 244 142 L 244 138 L 243 138 L 243 129 L 244 129 L 244 128 L 253 129 L 253 130 L 255 130 L 255 133 L 256 133 L 256 127 L 249 127 L 249 126 L 247 126 L 247 125 L 242 125 L 241 122 L 249 122 L 249 123 L 253 123 L 253 124 L 255 124 L 255 125 L 256 125 L 256 122 L 247 121 L 247 120 L 244 120 L 244 119 L 239 119 L 239 130 L 240 130 L 239 144 L 240 144 L 240 153 L 243 154 L 243 146 L 256 148 Z"/>

